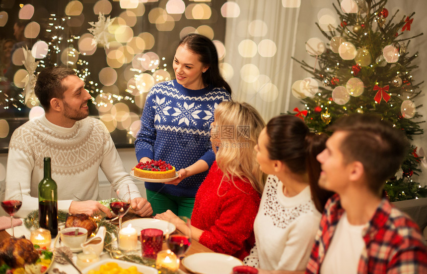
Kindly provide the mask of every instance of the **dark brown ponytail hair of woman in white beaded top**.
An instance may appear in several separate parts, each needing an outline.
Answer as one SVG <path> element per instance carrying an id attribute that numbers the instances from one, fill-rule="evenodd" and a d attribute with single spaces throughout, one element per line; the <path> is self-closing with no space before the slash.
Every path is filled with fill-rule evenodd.
<path id="1" fill-rule="evenodd" d="M 293 173 L 307 172 L 314 205 L 323 212 L 333 193 L 319 187 L 321 168 L 316 156 L 325 149 L 328 136 L 310 132 L 302 119 L 292 115 L 272 118 L 266 129 L 270 159 L 282 161 Z"/>

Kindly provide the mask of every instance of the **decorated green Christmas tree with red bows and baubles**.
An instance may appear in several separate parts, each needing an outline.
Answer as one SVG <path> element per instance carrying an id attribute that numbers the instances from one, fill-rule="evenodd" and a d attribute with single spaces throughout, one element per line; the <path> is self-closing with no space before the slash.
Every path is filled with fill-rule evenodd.
<path id="1" fill-rule="evenodd" d="M 386 3 L 342 0 L 333 4 L 337 20 L 331 14 L 319 15 L 316 25 L 329 43 L 325 46 L 318 38 L 307 41 L 308 54 L 316 58 L 314 65 L 296 61 L 312 77 L 292 85 L 292 94 L 305 106 L 295 108 L 293 114 L 313 130 L 325 131 L 340 116 L 358 112 L 382 115 L 410 140 L 423 134 L 416 112 L 421 106 L 414 104 L 423 82 L 412 78 L 418 52 L 407 51 L 411 39 L 423 33 L 410 35 L 415 12 L 397 18 L 398 11 L 389 15 Z M 412 178 L 421 172 L 421 160 L 412 146 L 401 169 L 386 183 L 390 201 L 426 196 L 427 188 Z"/>

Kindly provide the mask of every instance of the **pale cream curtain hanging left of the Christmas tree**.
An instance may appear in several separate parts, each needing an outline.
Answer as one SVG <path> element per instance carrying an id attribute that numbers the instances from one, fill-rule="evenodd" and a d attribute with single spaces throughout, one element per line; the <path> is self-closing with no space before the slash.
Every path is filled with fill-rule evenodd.
<path id="1" fill-rule="evenodd" d="M 266 121 L 289 109 L 300 8 L 284 7 L 286 1 L 235 0 L 240 15 L 226 23 L 223 67 L 232 67 L 224 74 L 233 99 L 251 104 Z"/>

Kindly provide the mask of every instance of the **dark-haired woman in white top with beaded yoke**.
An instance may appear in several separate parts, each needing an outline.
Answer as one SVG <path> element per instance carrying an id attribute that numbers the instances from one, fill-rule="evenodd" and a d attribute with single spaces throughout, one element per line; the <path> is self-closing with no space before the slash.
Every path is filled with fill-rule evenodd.
<path id="1" fill-rule="evenodd" d="M 319 188 L 316 155 L 327 136 L 311 133 L 302 119 L 272 118 L 256 146 L 262 171 L 270 174 L 254 223 L 256 243 L 244 263 L 268 271 L 304 271 L 321 212 L 331 193 Z M 277 273 L 277 272 L 275 272 Z"/>

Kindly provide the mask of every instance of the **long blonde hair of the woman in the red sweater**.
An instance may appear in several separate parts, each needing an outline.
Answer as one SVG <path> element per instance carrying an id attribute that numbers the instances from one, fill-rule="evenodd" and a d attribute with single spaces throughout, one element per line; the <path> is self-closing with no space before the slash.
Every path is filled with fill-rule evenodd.
<path id="1" fill-rule="evenodd" d="M 232 181 L 237 176 L 262 193 L 266 174 L 261 171 L 255 152 L 258 136 L 265 127 L 260 113 L 247 103 L 222 102 L 214 117 L 221 134 L 216 163 L 224 177 Z"/>

